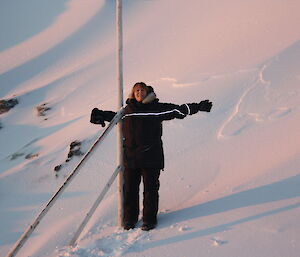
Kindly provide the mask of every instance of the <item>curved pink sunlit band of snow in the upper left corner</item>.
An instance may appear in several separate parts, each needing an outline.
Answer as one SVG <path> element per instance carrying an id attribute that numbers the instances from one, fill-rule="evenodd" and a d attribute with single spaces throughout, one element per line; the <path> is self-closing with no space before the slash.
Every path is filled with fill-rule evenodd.
<path id="1" fill-rule="evenodd" d="M 2 60 L 0 73 L 16 68 L 63 42 L 87 23 L 104 2 L 104 0 L 87 0 L 86 4 L 82 5 L 76 0 L 68 1 L 66 10 L 56 17 L 49 27 L 18 45 L 0 52 Z"/>

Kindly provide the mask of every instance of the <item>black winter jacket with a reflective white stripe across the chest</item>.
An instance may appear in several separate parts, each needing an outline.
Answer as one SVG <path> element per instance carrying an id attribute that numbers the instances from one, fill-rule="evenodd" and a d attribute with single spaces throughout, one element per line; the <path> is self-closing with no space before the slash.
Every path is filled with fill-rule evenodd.
<path id="1" fill-rule="evenodd" d="M 164 168 L 162 121 L 183 119 L 193 104 L 160 103 L 157 98 L 149 103 L 127 99 L 123 116 L 124 165 L 128 168 Z M 106 112 L 111 116 L 114 112 Z M 110 114 L 110 115 L 109 115 Z"/>

